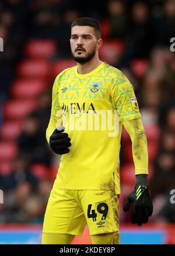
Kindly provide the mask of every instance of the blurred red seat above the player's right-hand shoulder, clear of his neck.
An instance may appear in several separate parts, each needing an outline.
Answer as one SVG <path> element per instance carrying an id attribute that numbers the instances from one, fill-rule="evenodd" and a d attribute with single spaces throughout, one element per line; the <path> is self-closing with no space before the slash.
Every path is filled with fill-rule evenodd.
<path id="1" fill-rule="evenodd" d="M 131 69 L 138 79 L 142 79 L 148 68 L 148 60 L 135 59 L 131 61 Z"/>

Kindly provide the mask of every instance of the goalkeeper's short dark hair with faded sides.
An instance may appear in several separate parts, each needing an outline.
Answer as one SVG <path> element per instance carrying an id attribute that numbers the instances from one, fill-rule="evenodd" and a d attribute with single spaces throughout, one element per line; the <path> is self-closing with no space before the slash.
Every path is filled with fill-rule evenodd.
<path id="1" fill-rule="evenodd" d="M 72 27 L 75 26 L 89 26 L 89 27 L 93 27 L 95 29 L 95 35 L 97 37 L 97 39 L 101 38 L 101 27 L 100 27 L 100 23 L 92 18 L 89 17 L 82 17 L 79 19 L 74 20 L 74 22 L 72 22 Z"/>

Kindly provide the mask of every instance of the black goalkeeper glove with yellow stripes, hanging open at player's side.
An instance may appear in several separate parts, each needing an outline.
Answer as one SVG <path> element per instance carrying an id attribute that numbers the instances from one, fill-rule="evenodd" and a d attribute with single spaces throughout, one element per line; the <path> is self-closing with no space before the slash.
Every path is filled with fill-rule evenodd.
<path id="1" fill-rule="evenodd" d="M 149 195 L 148 185 L 136 185 L 134 191 L 124 202 L 123 210 L 127 212 L 132 203 L 131 222 L 142 226 L 148 222 L 148 217 L 152 215 L 153 205 Z"/>

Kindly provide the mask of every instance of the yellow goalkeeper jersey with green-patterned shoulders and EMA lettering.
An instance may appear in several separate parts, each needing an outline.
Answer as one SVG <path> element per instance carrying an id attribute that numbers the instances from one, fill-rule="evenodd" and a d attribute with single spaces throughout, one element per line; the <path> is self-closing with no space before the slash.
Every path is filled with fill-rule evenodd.
<path id="1" fill-rule="evenodd" d="M 46 137 L 64 126 L 72 146 L 62 155 L 54 186 L 115 189 L 120 193 L 122 122 L 141 118 L 134 88 L 117 68 L 102 62 L 88 74 L 78 66 L 58 74 Z"/>

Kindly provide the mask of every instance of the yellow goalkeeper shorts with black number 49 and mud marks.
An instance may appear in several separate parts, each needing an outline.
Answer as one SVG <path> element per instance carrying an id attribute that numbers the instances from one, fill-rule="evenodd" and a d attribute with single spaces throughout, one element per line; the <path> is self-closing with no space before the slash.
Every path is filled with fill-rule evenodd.
<path id="1" fill-rule="evenodd" d="M 82 236 L 119 231 L 119 195 L 112 191 L 65 190 L 53 187 L 44 216 L 43 233 Z"/>

